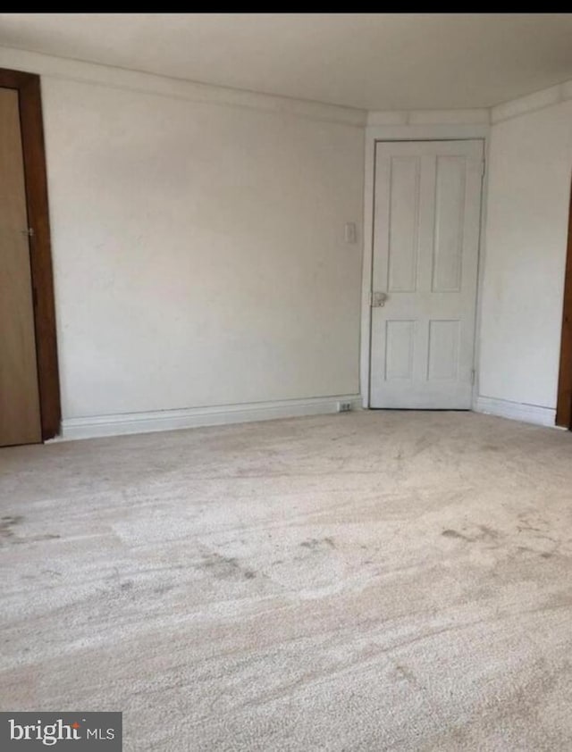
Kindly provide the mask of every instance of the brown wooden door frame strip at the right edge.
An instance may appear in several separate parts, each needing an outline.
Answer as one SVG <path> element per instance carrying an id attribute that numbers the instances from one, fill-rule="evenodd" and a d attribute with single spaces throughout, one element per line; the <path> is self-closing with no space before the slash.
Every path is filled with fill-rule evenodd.
<path id="1" fill-rule="evenodd" d="M 572 180 L 568 210 L 568 249 L 564 272 L 564 303 L 562 305 L 562 334 L 560 337 L 560 365 L 556 425 L 572 430 Z"/>

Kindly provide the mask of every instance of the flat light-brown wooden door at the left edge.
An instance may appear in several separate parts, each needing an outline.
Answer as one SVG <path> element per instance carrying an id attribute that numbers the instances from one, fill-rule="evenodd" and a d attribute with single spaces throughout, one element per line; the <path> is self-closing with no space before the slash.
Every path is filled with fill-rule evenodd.
<path id="1" fill-rule="evenodd" d="M 0 447 L 41 441 L 18 92 L 0 88 Z"/>

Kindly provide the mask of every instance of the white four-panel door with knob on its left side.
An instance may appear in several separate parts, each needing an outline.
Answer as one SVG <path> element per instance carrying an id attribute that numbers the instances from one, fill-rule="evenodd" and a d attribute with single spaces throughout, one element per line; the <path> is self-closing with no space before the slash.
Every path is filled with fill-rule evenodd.
<path id="1" fill-rule="evenodd" d="M 469 409 L 483 142 L 375 148 L 370 406 Z"/>

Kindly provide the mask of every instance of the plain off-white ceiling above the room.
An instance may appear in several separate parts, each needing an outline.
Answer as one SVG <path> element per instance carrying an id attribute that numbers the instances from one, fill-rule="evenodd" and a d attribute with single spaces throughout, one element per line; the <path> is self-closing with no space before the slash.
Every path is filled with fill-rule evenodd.
<path id="1" fill-rule="evenodd" d="M 367 110 L 572 79 L 572 13 L 0 13 L 0 45 Z"/>

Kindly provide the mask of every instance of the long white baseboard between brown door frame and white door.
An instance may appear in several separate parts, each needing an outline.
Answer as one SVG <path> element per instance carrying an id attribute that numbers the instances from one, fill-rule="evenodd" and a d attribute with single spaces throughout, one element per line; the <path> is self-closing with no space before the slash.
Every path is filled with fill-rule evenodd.
<path id="1" fill-rule="evenodd" d="M 245 405 L 189 407 L 183 410 L 161 410 L 155 413 L 95 415 L 88 418 L 64 419 L 62 435 L 53 440 L 94 439 L 100 436 L 122 436 L 130 433 L 150 433 L 156 430 L 197 428 L 198 426 L 337 413 L 340 402 L 349 402 L 352 410 L 361 409 L 361 397 L 353 394 Z"/>

